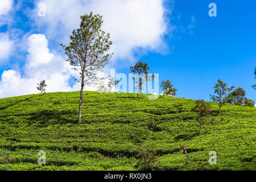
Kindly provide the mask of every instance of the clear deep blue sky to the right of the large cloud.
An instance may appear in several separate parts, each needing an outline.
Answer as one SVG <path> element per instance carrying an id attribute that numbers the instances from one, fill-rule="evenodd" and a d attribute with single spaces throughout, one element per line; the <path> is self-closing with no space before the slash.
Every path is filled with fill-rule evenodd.
<path id="1" fill-rule="evenodd" d="M 208 16 L 208 5 L 215 2 L 217 17 Z M 148 53 L 141 57 L 158 73 L 160 81 L 169 79 L 178 89 L 177 97 L 209 100 L 218 78 L 246 90 L 256 100 L 251 88 L 256 65 L 256 14 L 254 1 L 175 1 L 176 26 L 185 26 L 191 16 L 195 27 L 174 32 L 168 40 L 170 53 Z M 125 72 L 125 70 L 123 70 Z"/>

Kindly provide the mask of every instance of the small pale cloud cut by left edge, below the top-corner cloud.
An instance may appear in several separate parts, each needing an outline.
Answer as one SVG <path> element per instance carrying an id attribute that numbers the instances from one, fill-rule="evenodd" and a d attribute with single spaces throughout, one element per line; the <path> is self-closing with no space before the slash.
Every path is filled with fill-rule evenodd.
<path id="1" fill-rule="evenodd" d="M 13 41 L 7 33 L 0 33 L 0 63 L 7 60 L 13 49 Z"/>

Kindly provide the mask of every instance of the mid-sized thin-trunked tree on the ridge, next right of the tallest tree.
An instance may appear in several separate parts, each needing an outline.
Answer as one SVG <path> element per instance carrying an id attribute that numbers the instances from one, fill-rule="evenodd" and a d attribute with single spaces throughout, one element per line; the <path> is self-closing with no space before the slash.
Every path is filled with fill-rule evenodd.
<path id="1" fill-rule="evenodd" d="M 139 92 L 142 90 L 142 85 L 146 81 L 151 81 L 154 79 L 154 75 L 148 75 L 148 67 L 147 63 L 142 63 L 142 61 L 138 61 L 134 67 L 130 67 L 130 71 L 134 73 L 133 79 L 135 79 L 135 92 L 137 91 L 137 98 L 139 98 Z"/>

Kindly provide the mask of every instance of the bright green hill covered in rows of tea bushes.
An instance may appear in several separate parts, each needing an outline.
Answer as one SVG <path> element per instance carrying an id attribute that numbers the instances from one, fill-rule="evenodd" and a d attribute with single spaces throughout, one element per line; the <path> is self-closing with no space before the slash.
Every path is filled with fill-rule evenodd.
<path id="1" fill-rule="evenodd" d="M 198 133 L 195 100 L 85 92 L 32 94 L 0 100 L 0 156 L 8 170 L 138 170 L 138 153 L 155 152 L 158 170 L 255 170 L 256 108 L 212 103 Z M 179 149 L 186 144 L 189 154 Z M 46 152 L 46 165 L 38 152 Z M 210 165 L 209 151 L 217 152 Z M 5 164 L 0 161 L 0 170 Z"/>

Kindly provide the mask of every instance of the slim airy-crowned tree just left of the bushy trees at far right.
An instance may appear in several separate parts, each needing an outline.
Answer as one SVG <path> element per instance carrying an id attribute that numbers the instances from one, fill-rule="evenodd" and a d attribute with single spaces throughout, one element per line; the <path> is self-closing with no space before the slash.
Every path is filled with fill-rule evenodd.
<path id="1" fill-rule="evenodd" d="M 227 86 L 226 83 L 224 83 L 222 80 L 218 79 L 214 86 L 214 93 L 216 93 L 216 96 L 210 95 L 210 99 L 213 102 L 217 102 L 219 106 L 219 111 L 221 112 L 221 107 L 225 104 L 226 102 L 226 96 L 228 92 L 230 92 L 234 86 L 231 86 L 230 88 Z"/>

